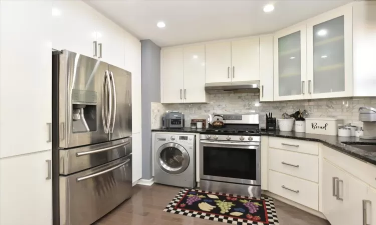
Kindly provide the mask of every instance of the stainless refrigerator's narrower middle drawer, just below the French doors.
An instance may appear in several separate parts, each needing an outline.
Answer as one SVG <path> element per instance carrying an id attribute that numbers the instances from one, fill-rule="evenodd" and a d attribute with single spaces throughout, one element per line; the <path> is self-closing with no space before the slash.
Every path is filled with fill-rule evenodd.
<path id="1" fill-rule="evenodd" d="M 132 153 L 132 137 L 59 150 L 59 172 L 68 175 Z"/>

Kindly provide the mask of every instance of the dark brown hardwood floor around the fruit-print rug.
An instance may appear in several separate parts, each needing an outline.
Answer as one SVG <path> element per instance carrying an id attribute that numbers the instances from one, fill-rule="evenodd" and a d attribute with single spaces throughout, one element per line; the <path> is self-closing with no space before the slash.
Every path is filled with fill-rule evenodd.
<path id="1" fill-rule="evenodd" d="M 208 219 L 164 212 L 164 207 L 180 190 L 179 187 L 153 184 L 151 186 L 135 185 L 133 196 L 121 203 L 107 215 L 96 221 L 95 225 L 122 224 L 226 224 Z M 294 206 L 274 200 L 280 225 L 327 225 L 324 219 L 311 215 Z"/>

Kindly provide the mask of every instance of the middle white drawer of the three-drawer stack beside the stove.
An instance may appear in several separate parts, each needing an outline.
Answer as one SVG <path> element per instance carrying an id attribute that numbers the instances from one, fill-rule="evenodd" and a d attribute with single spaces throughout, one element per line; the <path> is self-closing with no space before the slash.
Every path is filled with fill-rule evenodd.
<path id="1" fill-rule="evenodd" d="M 269 148 L 269 168 L 318 182 L 318 157 L 315 155 Z"/>

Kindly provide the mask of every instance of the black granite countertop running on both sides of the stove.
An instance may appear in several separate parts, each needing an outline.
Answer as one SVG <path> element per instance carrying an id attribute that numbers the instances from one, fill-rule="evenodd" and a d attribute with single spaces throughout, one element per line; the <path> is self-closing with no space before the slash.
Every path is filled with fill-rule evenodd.
<path id="1" fill-rule="evenodd" d="M 179 129 L 152 129 L 151 131 L 159 132 L 187 132 L 187 133 L 200 133 L 205 131 L 205 128 L 202 129 L 192 129 L 190 127 L 184 127 Z M 309 140 L 309 141 L 319 141 L 324 145 L 338 150 L 342 153 L 355 157 L 357 159 L 369 162 L 373 165 L 376 165 L 376 152 L 366 151 L 357 147 L 350 146 L 348 144 L 369 144 L 376 145 L 376 140 L 367 140 L 360 139 L 359 137 L 342 137 L 342 136 L 332 136 L 332 135 L 323 135 L 323 134 L 312 134 L 304 132 L 295 132 L 295 131 L 265 131 L 261 130 L 261 135 L 267 136 L 276 136 L 276 137 L 285 137 L 299 140 Z M 342 142 L 347 142 L 344 144 Z"/>

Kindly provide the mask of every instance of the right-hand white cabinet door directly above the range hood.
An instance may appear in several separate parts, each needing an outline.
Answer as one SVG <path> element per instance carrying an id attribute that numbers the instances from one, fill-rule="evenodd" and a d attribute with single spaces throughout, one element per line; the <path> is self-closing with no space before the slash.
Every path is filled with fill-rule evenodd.
<path id="1" fill-rule="evenodd" d="M 231 41 L 231 81 L 260 80 L 260 38 Z"/>

